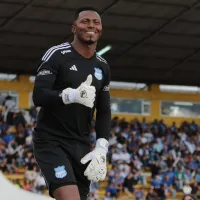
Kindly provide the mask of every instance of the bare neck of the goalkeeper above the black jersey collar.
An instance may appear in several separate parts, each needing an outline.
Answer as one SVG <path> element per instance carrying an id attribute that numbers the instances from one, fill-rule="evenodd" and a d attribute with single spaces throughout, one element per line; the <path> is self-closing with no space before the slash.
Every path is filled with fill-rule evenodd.
<path id="1" fill-rule="evenodd" d="M 96 43 L 87 45 L 76 39 L 71 44 L 73 48 L 85 58 L 91 58 L 94 55 L 97 46 Z"/>

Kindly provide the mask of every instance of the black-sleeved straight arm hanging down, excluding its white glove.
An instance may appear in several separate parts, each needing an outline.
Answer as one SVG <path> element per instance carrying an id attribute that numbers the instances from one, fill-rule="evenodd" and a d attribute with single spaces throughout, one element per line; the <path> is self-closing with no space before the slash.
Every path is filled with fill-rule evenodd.
<path id="1" fill-rule="evenodd" d="M 110 84 L 110 70 L 108 68 L 96 104 L 97 113 L 96 113 L 95 129 L 97 133 L 97 139 L 104 138 L 108 140 L 110 134 L 111 109 L 110 109 L 109 84 Z"/>

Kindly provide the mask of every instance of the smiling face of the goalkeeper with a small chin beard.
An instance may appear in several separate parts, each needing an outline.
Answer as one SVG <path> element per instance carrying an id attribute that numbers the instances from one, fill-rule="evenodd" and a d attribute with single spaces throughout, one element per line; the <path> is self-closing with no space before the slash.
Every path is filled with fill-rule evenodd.
<path id="1" fill-rule="evenodd" d="M 95 11 L 83 11 L 72 26 L 72 32 L 81 42 L 91 45 L 102 34 L 101 18 Z"/>

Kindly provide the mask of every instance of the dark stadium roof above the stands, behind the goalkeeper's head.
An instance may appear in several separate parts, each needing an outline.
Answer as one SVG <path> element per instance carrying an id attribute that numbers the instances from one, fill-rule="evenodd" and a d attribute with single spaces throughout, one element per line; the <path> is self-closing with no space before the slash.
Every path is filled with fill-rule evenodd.
<path id="1" fill-rule="evenodd" d="M 0 0 L 0 71 L 34 74 L 88 5 L 102 14 L 112 80 L 200 85 L 200 0 Z"/>

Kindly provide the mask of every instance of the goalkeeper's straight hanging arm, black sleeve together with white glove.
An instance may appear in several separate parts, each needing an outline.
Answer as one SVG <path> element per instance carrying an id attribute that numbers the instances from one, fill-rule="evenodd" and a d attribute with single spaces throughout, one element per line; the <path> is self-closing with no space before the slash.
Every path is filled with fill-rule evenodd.
<path id="1" fill-rule="evenodd" d="M 96 114 L 96 133 L 97 141 L 95 149 L 86 154 L 82 159 L 81 163 L 85 164 L 90 162 L 86 168 L 84 175 L 87 176 L 88 180 L 98 182 L 104 180 L 106 177 L 106 154 L 108 152 L 108 137 L 111 128 L 111 110 L 110 110 L 110 94 L 109 94 L 109 83 L 110 83 L 110 71 L 108 68 L 105 73 L 104 84 L 100 90 L 97 98 L 97 114 Z"/>

